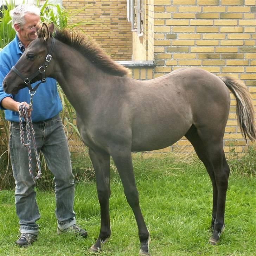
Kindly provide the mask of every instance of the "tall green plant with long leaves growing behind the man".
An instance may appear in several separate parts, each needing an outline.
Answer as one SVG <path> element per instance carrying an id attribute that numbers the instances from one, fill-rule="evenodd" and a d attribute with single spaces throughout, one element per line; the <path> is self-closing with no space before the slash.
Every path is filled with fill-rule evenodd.
<path id="1" fill-rule="evenodd" d="M 25 1 L 24 1 L 25 2 Z M 6 9 L 0 10 L 0 50 L 5 47 L 10 41 L 13 40 L 15 37 L 15 31 L 12 28 L 11 24 L 11 17 L 9 12 L 15 7 L 15 1 L 9 0 L 5 1 L 4 5 Z M 37 4 L 39 6 L 39 2 Z M 44 3 L 43 6 L 40 6 L 41 11 L 41 21 L 45 23 L 53 22 L 55 26 L 59 29 L 69 28 L 73 29 L 76 28 L 78 30 L 82 30 L 79 28 L 79 25 L 89 24 L 86 21 L 79 21 L 78 23 L 73 23 L 72 19 L 76 17 L 77 13 L 83 11 L 86 7 L 80 9 L 69 9 L 66 10 L 62 5 L 57 4 L 49 4 L 48 0 Z M 83 30 L 82 30 L 83 31 Z M 77 127 L 75 125 L 76 114 L 75 110 L 73 109 L 72 105 L 69 103 L 68 99 L 66 98 L 65 94 L 63 93 L 62 89 L 58 85 L 58 92 L 60 98 L 62 100 L 63 110 L 60 113 L 62 117 L 62 121 L 65 126 L 66 134 L 68 139 L 75 137 L 78 139 L 80 137 Z M 9 161 L 9 154 L 8 154 L 8 139 L 9 139 L 9 125 L 8 122 L 5 120 L 4 111 L 0 110 L 0 190 L 7 189 L 14 186 L 13 178 L 12 178 L 12 171 L 11 165 Z M 42 159 L 44 163 L 44 159 Z M 43 164 L 43 172 L 49 182 L 48 177 L 50 177 L 49 171 L 46 168 L 46 165 Z M 45 179 L 45 180 L 46 180 Z"/>

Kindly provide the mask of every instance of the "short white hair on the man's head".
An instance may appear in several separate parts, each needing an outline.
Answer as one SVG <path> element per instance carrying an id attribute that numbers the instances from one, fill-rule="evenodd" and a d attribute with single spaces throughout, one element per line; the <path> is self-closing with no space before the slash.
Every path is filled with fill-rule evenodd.
<path id="1" fill-rule="evenodd" d="M 29 4 L 22 4 L 22 5 L 16 6 L 14 9 L 10 11 L 13 28 L 14 28 L 14 24 L 19 24 L 21 28 L 25 25 L 24 15 L 26 13 L 40 15 L 40 9 L 35 5 L 29 5 Z"/>

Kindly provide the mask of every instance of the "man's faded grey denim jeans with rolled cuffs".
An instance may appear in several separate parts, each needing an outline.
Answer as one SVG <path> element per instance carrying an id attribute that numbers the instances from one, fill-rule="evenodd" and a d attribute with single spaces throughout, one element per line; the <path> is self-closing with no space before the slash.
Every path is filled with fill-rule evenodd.
<path id="1" fill-rule="evenodd" d="M 58 115 L 46 121 L 34 122 L 33 128 L 38 153 L 39 151 L 43 153 L 46 164 L 54 175 L 55 213 L 58 227 L 63 230 L 76 223 L 75 212 L 73 211 L 75 184 L 68 141 Z M 40 218 L 40 213 L 34 190 L 36 182 L 28 172 L 28 151 L 20 142 L 19 123 L 11 122 L 9 149 L 15 179 L 15 207 L 20 220 L 20 232 L 37 234 L 39 226 L 36 221 Z M 31 153 L 32 166 L 35 170 L 36 157 L 33 148 Z"/>

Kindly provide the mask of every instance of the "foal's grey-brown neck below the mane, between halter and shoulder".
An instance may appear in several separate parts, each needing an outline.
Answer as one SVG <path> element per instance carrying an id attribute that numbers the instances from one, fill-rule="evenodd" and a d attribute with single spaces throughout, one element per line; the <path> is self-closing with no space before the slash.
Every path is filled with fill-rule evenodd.
<path id="1" fill-rule="evenodd" d="M 86 107 L 111 86 L 109 83 L 111 76 L 81 53 L 59 41 L 56 41 L 55 47 L 59 50 L 54 52 L 54 78 L 75 109 L 76 106 L 81 106 L 81 102 Z"/>

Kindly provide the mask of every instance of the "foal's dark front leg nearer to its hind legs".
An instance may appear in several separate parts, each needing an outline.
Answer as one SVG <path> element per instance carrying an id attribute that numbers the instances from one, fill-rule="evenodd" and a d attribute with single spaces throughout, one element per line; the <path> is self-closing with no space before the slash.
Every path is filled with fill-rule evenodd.
<path id="1" fill-rule="evenodd" d="M 137 222 L 140 238 L 140 255 L 150 255 L 148 251 L 150 236 L 140 210 L 139 193 L 134 179 L 131 152 L 115 148 L 115 152 L 111 153 L 111 156 L 122 180 L 124 194 Z"/>

